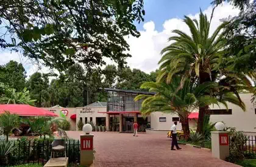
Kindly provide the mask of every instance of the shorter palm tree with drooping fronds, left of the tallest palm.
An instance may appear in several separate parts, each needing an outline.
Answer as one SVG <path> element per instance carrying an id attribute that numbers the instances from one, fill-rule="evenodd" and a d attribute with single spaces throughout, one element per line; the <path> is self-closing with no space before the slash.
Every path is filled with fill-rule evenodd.
<path id="1" fill-rule="evenodd" d="M 165 112 L 177 114 L 180 117 L 182 130 L 185 139 L 190 137 L 190 128 L 188 124 L 188 115 L 198 107 L 204 107 L 209 104 L 218 104 L 215 97 L 204 95 L 209 89 L 216 87 L 216 83 L 204 83 L 196 86 L 185 80 L 182 89 L 177 91 L 180 86 L 180 77 L 174 77 L 172 82 L 167 84 L 160 83 L 144 83 L 141 89 L 149 89 L 155 92 L 155 95 L 138 95 L 135 100 L 144 99 L 141 104 L 141 114 L 149 115 L 152 112 Z"/>

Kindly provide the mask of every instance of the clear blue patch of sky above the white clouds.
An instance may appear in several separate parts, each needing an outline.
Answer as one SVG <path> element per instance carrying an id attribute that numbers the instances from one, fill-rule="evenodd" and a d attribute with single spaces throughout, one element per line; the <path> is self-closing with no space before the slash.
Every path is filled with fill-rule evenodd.
<path id="1" fill-rule="evenodd" d="M 196 14 L 200 8 L 204 11 L 211 0 L 144 0 L 145 21 L 154 21 L 155 30 L 162 31 L 162 24 L 170 18 L 183 18 L 184 15 Z M 136 24 L 143 30 L 143 23 Z"/>

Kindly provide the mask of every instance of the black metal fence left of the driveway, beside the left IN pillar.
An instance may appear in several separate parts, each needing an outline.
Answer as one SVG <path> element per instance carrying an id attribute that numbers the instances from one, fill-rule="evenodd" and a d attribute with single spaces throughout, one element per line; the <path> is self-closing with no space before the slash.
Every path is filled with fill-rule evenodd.
<path id="1" fill-rule="evenodd" d="M 13 142 L 12 154 L 10 154 L 10 164 L 18 165 L 24 163 L 44 163 L 51 158 L 52 140 L 34 140 L 34 141 L 16 141 Z M 68 162 L 80 162 L 80 141 L 67 140 L 66 141 L 66 156 Z M 55 157 L 65 157 L 64 152 L 55 153 Z"/>

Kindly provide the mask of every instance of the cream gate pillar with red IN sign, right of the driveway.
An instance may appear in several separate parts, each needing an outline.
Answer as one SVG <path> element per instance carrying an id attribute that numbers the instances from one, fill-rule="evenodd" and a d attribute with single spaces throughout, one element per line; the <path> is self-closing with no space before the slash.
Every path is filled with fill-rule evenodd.
<path id="1" fill-rule="evenodd" d="M 212 131 L 212 155 L 225 160 L 229 156 L 229 134 L 224 131 Z"/>

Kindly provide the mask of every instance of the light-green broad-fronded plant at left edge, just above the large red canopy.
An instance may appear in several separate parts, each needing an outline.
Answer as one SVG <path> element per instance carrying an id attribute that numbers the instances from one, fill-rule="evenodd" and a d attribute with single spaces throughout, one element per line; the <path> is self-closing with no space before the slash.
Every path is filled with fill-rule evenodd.
<path id="1" fill-rule="evenodd" d="M 22 92 L 16 92 L 15 89 L 5 87 L 4 96 L 0 98 L 0 103 L 5 104 L 29 104 L 35 105 L 35 101 L 30 99 L 29 90 L 25 87 Z"/>

